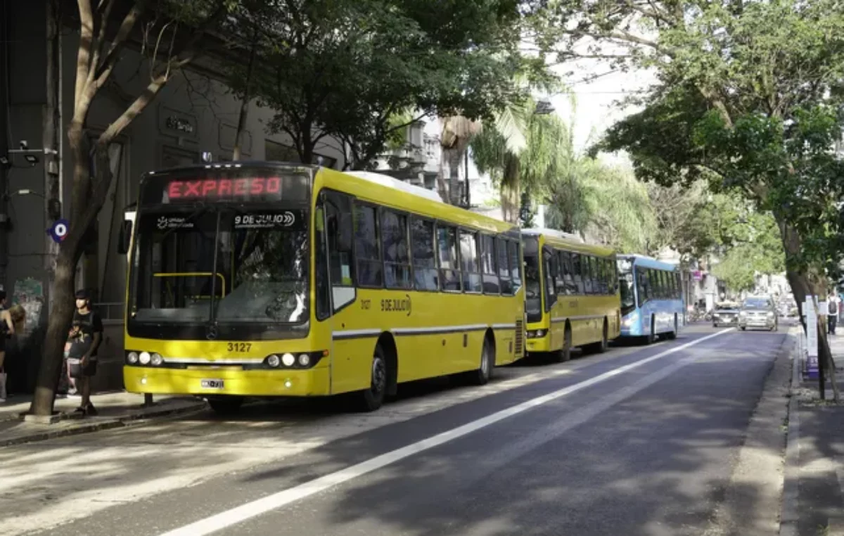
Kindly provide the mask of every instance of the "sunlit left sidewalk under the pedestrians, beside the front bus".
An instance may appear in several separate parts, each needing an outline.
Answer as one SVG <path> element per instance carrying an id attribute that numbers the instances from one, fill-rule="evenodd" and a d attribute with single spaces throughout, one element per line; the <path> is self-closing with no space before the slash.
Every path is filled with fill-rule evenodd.
<path id="1" fill-rule="evenodd" d="M 143 395 L 125 392 L 100 393 L 91 397 L 98 415 L 82 419 L 73 415 L 73 410 L 78 408 L 81 398 L 57 398 L 55 409 L 62 414 L 62 420 L 47 425 L 22 420 L 21 414 L 30 409 L 31 401 L 31 397 L 18 396 L 9 398 L 6 403 L 0 403 L 0 447 L 107 430 L 156 417 L 188 414 L 206 406 L 205 401 L 199 398 L 158 396 L 154 398 L 152 406 L 144 407 Z"/>

